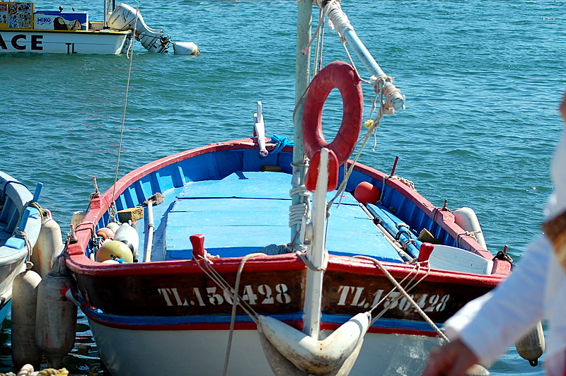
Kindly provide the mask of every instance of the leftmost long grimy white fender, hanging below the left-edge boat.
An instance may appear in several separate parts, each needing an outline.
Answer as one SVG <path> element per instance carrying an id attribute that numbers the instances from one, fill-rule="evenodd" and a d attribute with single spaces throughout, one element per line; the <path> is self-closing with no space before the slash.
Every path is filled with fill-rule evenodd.
<path id="1" fill-rule="evenodd" d="M 39 369 L 41 352 L 35 343 L 37 286 L 41 277 L 35 271 L 22 271 L 12 286 L 12 363 L 16 369 L 25 364 Z"/>

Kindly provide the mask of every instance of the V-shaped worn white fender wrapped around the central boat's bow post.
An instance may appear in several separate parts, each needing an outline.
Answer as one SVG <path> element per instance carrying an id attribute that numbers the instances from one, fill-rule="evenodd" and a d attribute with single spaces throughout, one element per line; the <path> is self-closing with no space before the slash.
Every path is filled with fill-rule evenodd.
<path id="1" fill-rule="evenodd" d="M 296 368 L 314 375 L 348 375 L 369 328 L 369 315 L 359 313 L 318 341 L 273 317 L 260 315 L 258 319 L 258 329 L 271 346 Z"/>

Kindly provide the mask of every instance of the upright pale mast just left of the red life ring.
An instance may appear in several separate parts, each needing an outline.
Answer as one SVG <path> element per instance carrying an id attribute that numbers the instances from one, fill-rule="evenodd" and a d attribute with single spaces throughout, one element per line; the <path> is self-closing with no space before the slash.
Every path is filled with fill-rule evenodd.
<path id="1" fill-rule="evenodd" d="M 303 144 L 303 94 L 311 82 L 311 52 L 310 49 L 303 54 L 303 49 L 311 40 L 311 23 L 313 17 L 313 1 L 301 0 L 297 4 L 296 24 L 296 65 L 295 65 L 295 112 L 294 112 L 294 148 L 293 148 L 293 180 L 292 187 L 304 184 L 304 144 Z M 306 198 L 300 194 L 294 194 L 292 204 L 306 202 Z M 297 233 L 299 226 L 291 227 L 291 242 L 299 243 Z"/>

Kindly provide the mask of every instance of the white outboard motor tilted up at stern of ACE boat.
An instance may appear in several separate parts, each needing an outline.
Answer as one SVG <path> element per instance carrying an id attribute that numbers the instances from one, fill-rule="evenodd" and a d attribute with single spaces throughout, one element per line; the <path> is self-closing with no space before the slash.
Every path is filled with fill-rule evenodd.
<path id="1" fill-rule="evenodd" d="M 127 4 L 120 4 L 114 9 L 108 18 L 108 26 L 116 30 L 134 30 L 135 28 L 136 39 L 149 52 L 167 52 L 167 49 L 173 45 L 175 54 L 199 54 L 199 49 L 195 43 L 175 43 L 171 41 L 168 34 L 163 33 L 163 30 L 149 28 L 141 14 Z M 176 45 L 183 47 L 177 48 Z"/>

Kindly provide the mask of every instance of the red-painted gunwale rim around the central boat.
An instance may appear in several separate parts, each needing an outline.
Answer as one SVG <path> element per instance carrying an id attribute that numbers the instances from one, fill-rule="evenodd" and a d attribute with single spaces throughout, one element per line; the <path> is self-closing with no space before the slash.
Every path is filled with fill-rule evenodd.
<path id="1" fill-rule="evenodd" d="M 272 150 L 275 147 L 273 144 L 268 144 L 267 149 Z M 202 146 L 200 148 L 191 149 L 189 151 L 183 151 L 174 155 L 170 155 L 165 158 L 161 158 L 152 163 L 142 166 L 137 170 L 129 172 L 125 177 L 118 180 L 115 185 L 115 189 L 108 189 L 107 192 L 100 195 L 98 198 L 91 201 L 91 210 L 88 211 L 83 223 L 81 223 L 76 230 L 77 242 L 69 245 L 67 258 L 67 266 L 71 271 L 81 276 L 123 276 L 129 274 L 132 276 L 136 275 L 155 275 L 155 274 L 186 274 L 186 273 L 197 273 L 200 274 L 202 271 L 198 268 L 195 262 L 192 260 L 182 260 L 182 261 L 164 261 L 164 262 L 151 262 L 150 263 L 139 263 L 139 264 L 120 264 L 108 267 L 108 265 L 100 264 L 98 262 L 93 262 L 88 259 L 84 254 L 84 250 L 88 246 L 88 242 L 91 239 L 91 233 L 93 232 L 93 223 L 98 223 L 100 218 L 103 217 L 108 207 L 114 201 L 115 197 L 120 196 L 122 192 L 133 184 L 141 177 L 148 175 L 151 172 L 159 170 L 166 165 L 176 163 L 180 160 L 187 158 L 192 158 L 197 155 L 202 155 L 205 153 L 214 153 L 218 151 L 229 151 L 236 149 L 257 149 L 258 144 L 255 143 L 253 139 L 241 139 L 233 141 L 225 141 L 221 143 L 213 143 L 208 146 Z M 284 151 L 292 151 L 292 148 L 285 148 Z M 352 161 L 349 161 L 352 163 Z M 364 173 L 369 177 L 374 177 L 377 180 L 383 181 L 386 176 L 383 172 L 369 168 L 364 165 L 357 164 L 354 170 Z M 454 237 L 459 236 L 461 244 L 467 249 L 478 249 L 476 253 L 480 254 L 482 257 L 487 259 L 492 259 L 492 254 L 487 250 L 483 249 L 478 242 L 469 235 L 463 235 L 463 230 L 456 225 L 454 222 L 454 215 L 449 211 L 441 211 L 439 208 L 433 206 L 432 204 L 424 199 L 418 192 L 414 189 L 410 189 L 407 185 L 395 179 L 387 179 L 386 184 L 398 190 L 405 197 L 410 199 L 415 205 L 417 205 L 425 213 L 429 213 L 430 216 L 435 216 L 439 225 L 441 225 L 445 230 L 449 231 Z M 112 196 L 114 192 L 115 196 Z M 206 247 L 206 242 L 205 242 Z M 469 248 L 468 248 L 469 247 Z M 266 262 L 269 260 L 269 262 Z M 215 269 L 219 272 L 224 271 L 236 271 L 241 262 L 241 257 L 226 257 L 219 260 L 215 260 Z M 478 284 L 482 286 L 495 286 L 499 281 L 502 280 L 504 276 L 509 274 L 511 267 L 509 262 L 503 262 L 495 260 L 494 262 L 494 274 L 489 276 L 479 276 L 473 274 L 463 274 L 451 271 L 438 271 L 432 270 L 427 276 L 427 281 L 444 281 L 451 283 L 461 283 L 461 284 Z M 282 254 L 270 257 L 258 257 L 248 260 L 246 262 L 246 270 L 296 270 L 304 269 L 303 262 L 296 257 L 294 254 Z M 407 274 L 408 270 L 412 269 L 412 266 L 404 264 L 388 264 L 388 269 L 391 271 L 393 276 L 403 277 Z M 374 264 L 367 260 L 362 259 L 352 259 L 352 257 L 342 257 L 342 256 L 331 256 L 330 262 L 328 264 L 328 270 L 342 270 L 350 271 L 354 273 L 362 274 L 378 274 L 381 275 L 381 271 L 374 266 Z M 424 273 L 424 271 L 420 272 Z"/>

